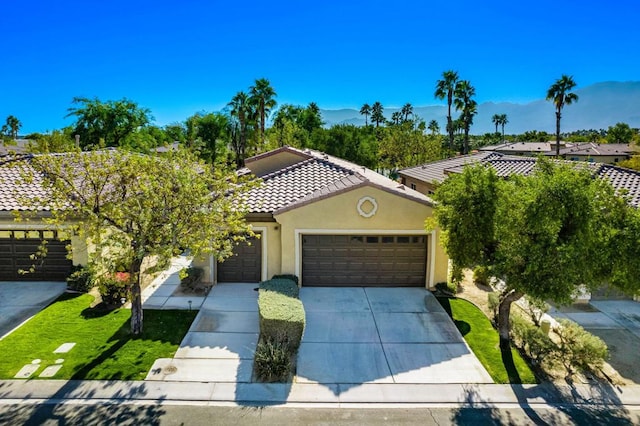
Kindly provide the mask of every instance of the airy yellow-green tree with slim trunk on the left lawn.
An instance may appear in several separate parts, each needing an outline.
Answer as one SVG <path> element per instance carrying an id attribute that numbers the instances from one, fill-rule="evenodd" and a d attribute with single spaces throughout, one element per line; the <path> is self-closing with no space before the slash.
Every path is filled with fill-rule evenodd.
<path id="1" fill-rule="evenodd" d="M 164 156 L 74 152 L 36 156 L 31 164 L 25 179 L 41 176 L 50 195 L 25 201 L 50 206 L 50 223 L 88 239 L 91 264 L 112 272 L 124 265 L 130 272 L 134 334 L 142 332 L 145 259 L 166 261 L 187 248 L 194 256 L 211 253 L 222 260 L 236 242 L 253 235 L 242 203 L 252 184 L 184 150 Z"/>

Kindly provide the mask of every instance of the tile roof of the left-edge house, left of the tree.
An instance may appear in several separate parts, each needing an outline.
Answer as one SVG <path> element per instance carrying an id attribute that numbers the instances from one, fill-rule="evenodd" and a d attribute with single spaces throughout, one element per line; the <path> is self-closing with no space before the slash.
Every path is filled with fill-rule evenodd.
<path id="1" fill-rule="evenodd" d="M 21 202 L 22 197 L 42 198 L 47 195 L 37 175 L 34 176 L 34 182 L 22 182 L 22 172 L 30 167 L 29 158 L 31 156 L 0 156 L 0 212 L 30 210 Z M 37 210 L 49 208 L 40 207 Z"/>

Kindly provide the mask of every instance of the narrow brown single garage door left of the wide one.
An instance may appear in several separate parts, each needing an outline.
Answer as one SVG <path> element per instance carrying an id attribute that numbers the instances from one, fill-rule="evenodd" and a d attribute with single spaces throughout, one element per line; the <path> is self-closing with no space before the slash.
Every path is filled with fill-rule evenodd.
<path id="1" fill-rule="evenodd" d="M 248 244 L 251 243 L 251 244 Z M 262 244 L 252 238 L 233 250 L 233 256 L 218 263 L 219 283 L 257 283 L 262 277 Z"/>

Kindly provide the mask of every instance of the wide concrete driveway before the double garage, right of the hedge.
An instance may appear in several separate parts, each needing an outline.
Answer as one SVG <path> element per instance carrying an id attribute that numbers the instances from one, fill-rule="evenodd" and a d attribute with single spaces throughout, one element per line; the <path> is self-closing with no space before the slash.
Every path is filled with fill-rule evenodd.
<path id="1" fill-rule="evenodd" d="M 300 290 L 301 383 L 492 383 L 435 297 L 421 288 Z"/>

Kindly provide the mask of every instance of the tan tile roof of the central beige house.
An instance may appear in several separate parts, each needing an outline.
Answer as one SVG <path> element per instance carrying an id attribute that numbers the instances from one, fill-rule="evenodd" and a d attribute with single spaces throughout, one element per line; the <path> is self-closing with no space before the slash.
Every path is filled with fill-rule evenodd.
<path id="1" fill-rule="evenodd" d="M 418 191 L 340 158 L 308 149 L 286 147 L 285 150 L 304 156 L 300 162 L 261 177 L 261 187 L 251 190 L 248 197 L 252 213 L 283 213 L 364 185 L 420 203 L 433 203 Z"/>

